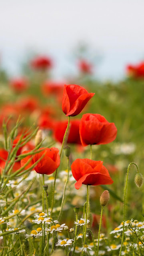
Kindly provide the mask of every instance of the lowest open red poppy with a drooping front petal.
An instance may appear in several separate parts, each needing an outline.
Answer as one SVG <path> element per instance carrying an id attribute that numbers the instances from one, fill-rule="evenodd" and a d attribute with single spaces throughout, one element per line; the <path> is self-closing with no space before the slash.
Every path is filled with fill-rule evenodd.
<path id="1" fill-rule="evenodd" d="M 85 185 L 106 185 L 112 184 L 113 180 L 102 161 L 94 161 L 90 159 L 76 159 L 72 165 L 72 175 L 77 181 L 75 188 L 79 189 L 82 184 Z"/>

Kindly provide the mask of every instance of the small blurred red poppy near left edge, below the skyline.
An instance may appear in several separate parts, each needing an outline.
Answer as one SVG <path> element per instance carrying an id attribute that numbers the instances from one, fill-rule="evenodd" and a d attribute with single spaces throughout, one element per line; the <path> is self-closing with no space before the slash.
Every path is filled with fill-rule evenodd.
<path id="1" fill-rule="evenodd" d="M 10 86 L 15 92 L 24 92 L 28 88 L 28 81 L 25 78 L 16 78 L 10 81 Z"/>

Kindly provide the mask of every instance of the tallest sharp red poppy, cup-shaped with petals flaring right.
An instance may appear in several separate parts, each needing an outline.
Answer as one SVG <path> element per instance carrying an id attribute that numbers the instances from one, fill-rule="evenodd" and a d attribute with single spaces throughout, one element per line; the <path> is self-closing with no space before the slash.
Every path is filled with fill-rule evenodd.
<path id="1" fill-rule="evenodd" d="M 94 96 L 86 89 L 76 84 L 64 85 L 62 98 L 62 110 L 66 116 L 77 116 L 83 110 L 86 103 Z"/>

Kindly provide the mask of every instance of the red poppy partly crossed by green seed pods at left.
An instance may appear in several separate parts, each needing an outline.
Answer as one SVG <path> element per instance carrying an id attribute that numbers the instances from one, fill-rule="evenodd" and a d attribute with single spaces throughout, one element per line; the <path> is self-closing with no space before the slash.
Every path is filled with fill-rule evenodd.
<path id="1" fill-rule="evenodd" d="M 43 150 L 42 150 L 43 149 Z M 31 162 L 26 166 L 25 169 L 30 168 L 32 164 L 34 164 L 38 159 L 42 156 L 43 158 L 36 164 L 34 170 L 40 174 L 52 174 L 60 165 L 60 155 L 58 148 L 40 148 L 42 150 L 40 153 L 36 153 L 33 155 Z M 29 153 L 31 150 L 24 151 L 24 153 Z M 26 162 L 32 156 L 26 156 L 24 159 L 21 160 L 21 166 L 24 166 Z"/>

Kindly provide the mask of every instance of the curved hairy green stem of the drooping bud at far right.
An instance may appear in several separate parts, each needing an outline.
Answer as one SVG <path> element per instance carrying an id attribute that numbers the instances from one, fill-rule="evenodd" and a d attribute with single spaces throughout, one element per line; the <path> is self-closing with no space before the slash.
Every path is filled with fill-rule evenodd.
<path id="1" fill-rule="evenodd" d="M 127 174 L 126 174 L 126 185 L 125 185 L 125 188 L 124 188 L 124 215 L 123 215 L 123 223 L 124 223 L 124 221 L 125 221 L 125 215 L 126 215 L 126 190 L 127 190 L 127 186 L 128 186 L 128 174 L 129 174 L 129 169 L 130 169 L 131 164 L 134 164 L 134 165 L 136 166 L 136 168 L 137 168 L 137 172 L 139 172 L 138 166 L 137 166 L 135 163 L 130 163 L 130 164 L 129 164 L 128 170 L 127 170 Z M 119 256 L 121 255 L 121 252 L 122 252 L 123 242 L 124 242 L 124 224 L 123 224 L 122 242 L 121 242 L 121 247 L 120 247 L 120 254 L 119 254 Z"/>

